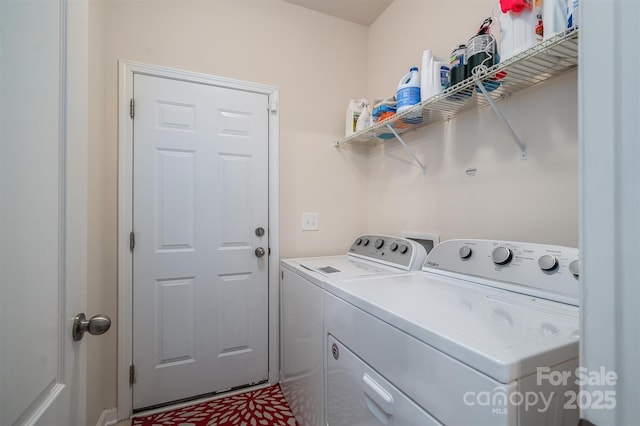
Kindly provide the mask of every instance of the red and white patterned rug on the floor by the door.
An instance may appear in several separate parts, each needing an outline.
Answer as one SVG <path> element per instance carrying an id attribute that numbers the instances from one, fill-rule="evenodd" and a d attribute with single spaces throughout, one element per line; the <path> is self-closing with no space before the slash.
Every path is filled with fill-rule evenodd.
<path id="1" fill-rule="evenodd" d="M 280 385 L 132 419 L 132 426 L 296 426 Z"/>

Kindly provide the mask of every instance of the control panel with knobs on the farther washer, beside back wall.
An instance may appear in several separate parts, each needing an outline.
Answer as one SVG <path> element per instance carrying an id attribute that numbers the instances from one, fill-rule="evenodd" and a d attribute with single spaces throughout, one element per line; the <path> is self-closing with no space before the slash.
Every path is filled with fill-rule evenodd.
<path id="1" fill-rule="evenodd" d="M 348 254 L 407 271 L 420 270 L 427 257 L 425 248 L 415 241 L 376 234 L 356 238 Z"/>

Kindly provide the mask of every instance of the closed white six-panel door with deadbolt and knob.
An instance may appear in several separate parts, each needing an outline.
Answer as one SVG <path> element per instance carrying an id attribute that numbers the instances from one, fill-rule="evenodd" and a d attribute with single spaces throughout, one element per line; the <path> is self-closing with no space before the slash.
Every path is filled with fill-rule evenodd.
<path id="1" fill-rule="evenodd" d="M 135 410 L 268 379 L 268 97 L 133 87 Z"/>

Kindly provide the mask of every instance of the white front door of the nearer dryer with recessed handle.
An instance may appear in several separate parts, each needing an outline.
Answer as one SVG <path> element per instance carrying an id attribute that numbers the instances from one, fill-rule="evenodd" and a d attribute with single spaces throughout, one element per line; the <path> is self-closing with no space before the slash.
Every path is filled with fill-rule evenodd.
<path id="1" fill-rule="evenodd" d="M 327 424 L 441 425 L 332 335 L 327 335 Z"/>

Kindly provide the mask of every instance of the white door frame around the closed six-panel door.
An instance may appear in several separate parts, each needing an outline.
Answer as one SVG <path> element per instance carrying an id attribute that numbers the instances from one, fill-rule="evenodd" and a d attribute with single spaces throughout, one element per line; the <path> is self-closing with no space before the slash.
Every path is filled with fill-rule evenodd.
<path id="1" fill-rule="evenodd" d="M 269 382 L 278 382 L 279 352 L 279 90 L 274 86 L 216 77 L 175 68 L 149 65 L 130 60 L 118 61 L 118 419 L 133 412 L 129 366 L 133 362 L 133 258 L 129 233 L 133 229 L 133 120 L 130 100 L 135 74 L 207 84 L 265 94 L 269 111 Z"/>

